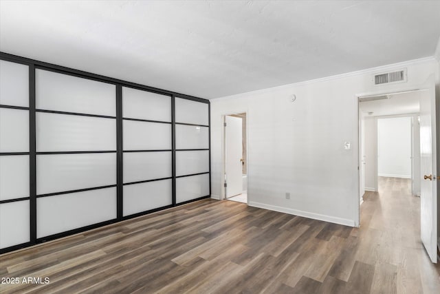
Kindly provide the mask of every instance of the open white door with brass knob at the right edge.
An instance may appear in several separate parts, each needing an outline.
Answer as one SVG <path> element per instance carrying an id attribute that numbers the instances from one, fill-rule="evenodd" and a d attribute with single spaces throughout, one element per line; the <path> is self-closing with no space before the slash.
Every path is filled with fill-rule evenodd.
<path id="1" fill-rule="evenodd" d="M 437 146 L 434 76 L 426 82 L 420 98 L 421 241 L 432 262 L 437 263 Z"/>

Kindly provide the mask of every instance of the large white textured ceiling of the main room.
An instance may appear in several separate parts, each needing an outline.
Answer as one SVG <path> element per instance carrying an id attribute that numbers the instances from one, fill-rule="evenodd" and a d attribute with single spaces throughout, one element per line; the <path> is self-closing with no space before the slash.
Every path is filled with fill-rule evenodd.
<path id="1" fill-rule="evenodd" d="M 1 1 L 0 50 L 217 98 L 434 54 L 440 1 Z"/>

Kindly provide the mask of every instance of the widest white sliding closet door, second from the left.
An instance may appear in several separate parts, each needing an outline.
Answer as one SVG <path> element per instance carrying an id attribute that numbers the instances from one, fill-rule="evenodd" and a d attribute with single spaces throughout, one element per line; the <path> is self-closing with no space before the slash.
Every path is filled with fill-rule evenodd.
<path id="1" fill-rule="evenodd" d="M 36 70 L 36 238 L 117 217 L 115 89 Z"/>

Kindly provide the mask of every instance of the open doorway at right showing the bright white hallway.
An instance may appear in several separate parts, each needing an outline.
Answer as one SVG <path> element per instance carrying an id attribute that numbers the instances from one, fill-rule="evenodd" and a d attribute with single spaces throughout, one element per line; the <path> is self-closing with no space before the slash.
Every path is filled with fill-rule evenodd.
<path id="1" fill-rule="evenodd" d="M 360 203 L 383 178 L 408 180 L 420 195 L 420 92 L 360 98 Z"/>

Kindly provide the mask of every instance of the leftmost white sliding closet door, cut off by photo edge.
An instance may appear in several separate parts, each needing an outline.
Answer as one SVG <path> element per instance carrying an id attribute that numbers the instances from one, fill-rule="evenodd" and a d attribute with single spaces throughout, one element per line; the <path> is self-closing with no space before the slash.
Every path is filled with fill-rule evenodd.
<path id="1" fill-rule="evenodd" d="M 0 61 L 0 249 L 30 242 L 29 66 Z"/>

